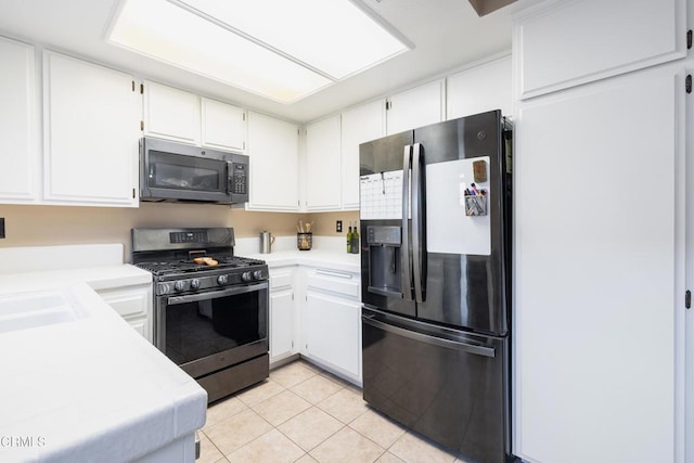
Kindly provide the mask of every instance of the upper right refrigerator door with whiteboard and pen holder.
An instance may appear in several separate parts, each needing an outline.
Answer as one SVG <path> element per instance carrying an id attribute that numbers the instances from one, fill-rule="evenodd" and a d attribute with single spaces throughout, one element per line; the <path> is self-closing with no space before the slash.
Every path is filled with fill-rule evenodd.
<path id="1" fill-rule="evenodd" d="M 414 132 L 426 215 L 416 317 L 500 336 L 509 331 L 511 205 L 501 128 L 493 111 Z"/>

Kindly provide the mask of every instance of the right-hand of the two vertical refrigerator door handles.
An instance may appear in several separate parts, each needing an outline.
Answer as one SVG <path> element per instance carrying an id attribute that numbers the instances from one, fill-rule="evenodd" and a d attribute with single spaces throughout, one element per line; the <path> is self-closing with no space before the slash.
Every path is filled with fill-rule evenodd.
<path id="1" fill-rule="evenodd" d="M 412 146 L 412 278 L 414 280 L 414 300 L 424 301 L 424 292 L 422 291 L 422 239 L 424 233 L 422 230 L 424 220 L 424 197 L 423 190 L 423 167 L 424 157 L 422 156 L 422 145 L 414 143 Z"/>

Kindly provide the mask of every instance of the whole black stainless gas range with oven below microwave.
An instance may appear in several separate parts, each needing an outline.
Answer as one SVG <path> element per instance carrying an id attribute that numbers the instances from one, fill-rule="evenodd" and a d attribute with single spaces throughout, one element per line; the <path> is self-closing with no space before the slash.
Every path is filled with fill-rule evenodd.
<path id="1" fill-rule="evenodd" d="M 210 402 L 268 377 L 268 267 L 234 256 L 230 228 L 132 229 L 153 273 L 154 340 Z"/>

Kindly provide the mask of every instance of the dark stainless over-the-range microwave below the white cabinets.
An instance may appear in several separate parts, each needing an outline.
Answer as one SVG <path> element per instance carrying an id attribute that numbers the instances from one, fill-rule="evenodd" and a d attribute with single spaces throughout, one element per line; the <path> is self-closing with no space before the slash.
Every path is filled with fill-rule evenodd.
<path id="1" fill-rule="evenodd" d="M 248 156 L 142 138 L 140 200 L 245 203 L 248 201 Z"/>

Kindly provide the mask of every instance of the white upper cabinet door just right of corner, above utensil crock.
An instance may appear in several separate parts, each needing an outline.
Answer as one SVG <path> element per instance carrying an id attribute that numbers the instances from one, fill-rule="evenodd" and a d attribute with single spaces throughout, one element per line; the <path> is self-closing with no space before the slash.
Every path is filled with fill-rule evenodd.
<path id="1" fill-rule="evenodd" d="M 339 116 L 306 126 L 306 208 L 342 207 Z"/>

